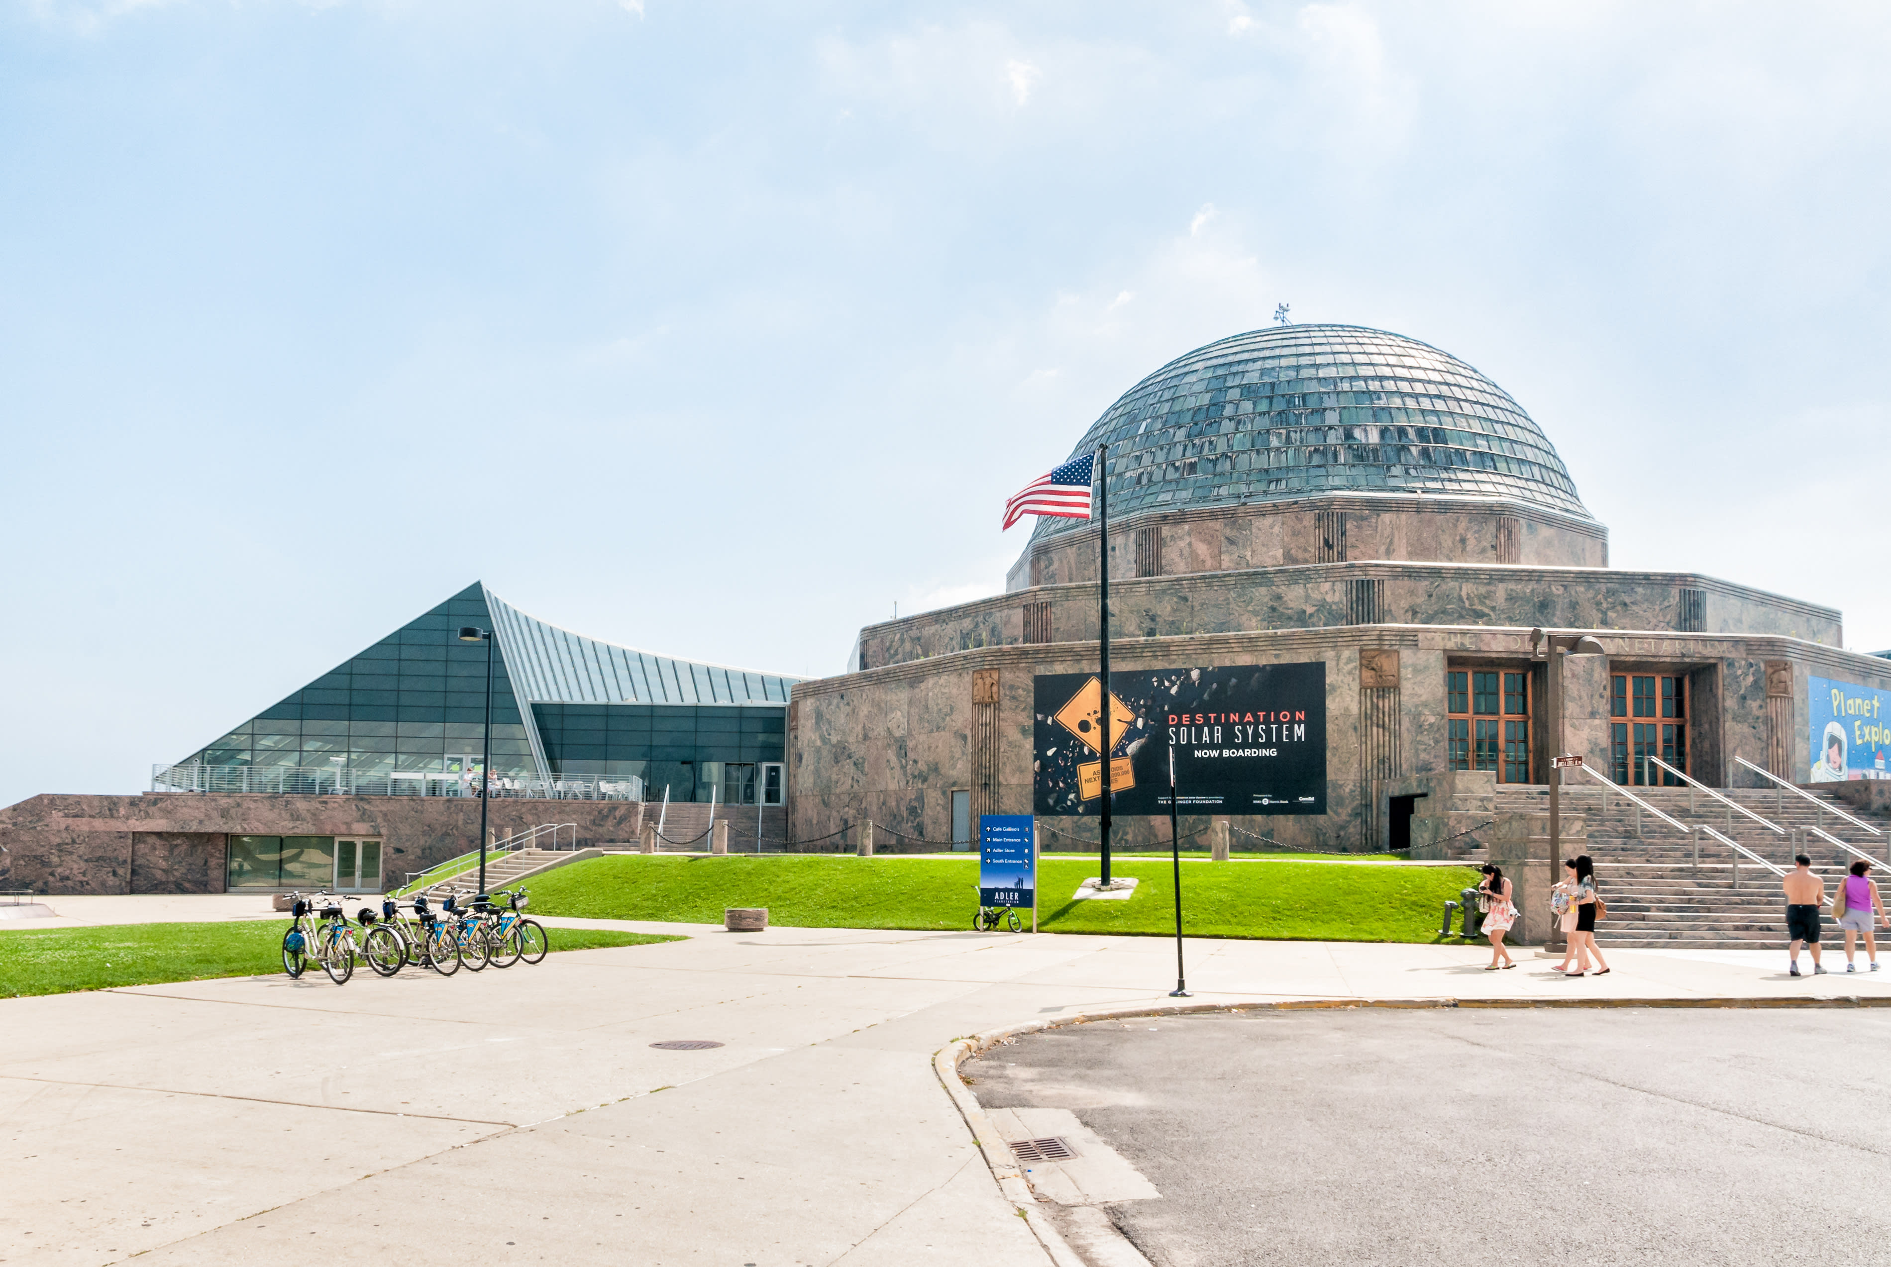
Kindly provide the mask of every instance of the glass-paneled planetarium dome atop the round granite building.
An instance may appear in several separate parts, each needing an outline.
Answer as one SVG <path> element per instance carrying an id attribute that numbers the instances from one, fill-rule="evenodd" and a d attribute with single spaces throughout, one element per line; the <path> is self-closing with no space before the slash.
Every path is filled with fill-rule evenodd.
<path id="1" fill-rule="evenodd" d="M 1362 325 L 1275 325 L 1176 357 L 1104 410 L 1110 516 L 1322 494 L 1522 501 L 1594 516 L 1522 405 L 1430 344 Z M 1044 518 L 1032 541 L 1082 528 Z"/>

